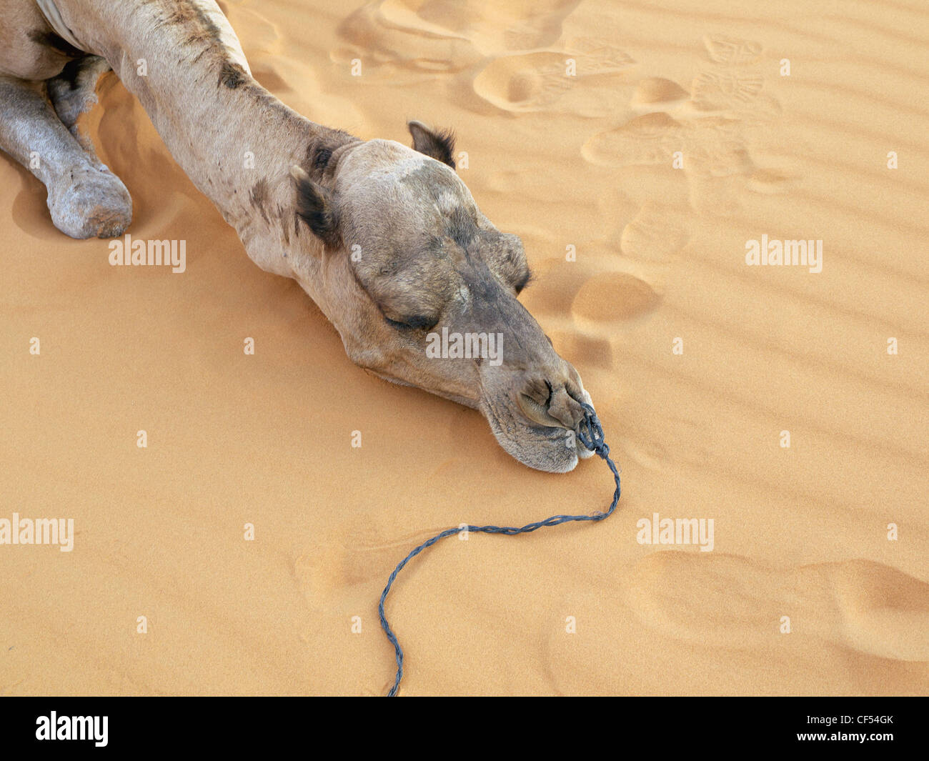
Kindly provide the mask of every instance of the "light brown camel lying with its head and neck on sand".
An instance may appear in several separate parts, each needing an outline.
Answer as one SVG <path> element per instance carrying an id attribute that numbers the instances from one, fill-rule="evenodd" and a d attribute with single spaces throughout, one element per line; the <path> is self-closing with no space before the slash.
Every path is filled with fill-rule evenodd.
<path id="1" fill-rule="evenodd" d="M 300 284 L 351 361 L 478 409 L 527 466 L 563 473 L 591 454 L 574 436 L 590 395 L 517 300 L 523 245 L 478 209 L 451 133 L 411 121 L 408 147 L 309 121 L 255 81 L 213 0 L 0 0 L 0 20 L 0 148 L 45 184 L 59 230 L 116 237 L 132 219 L 77 125 L 112 70 L 248 256 Z M 437 357 L 437 335 L 494 336 L 499 357 Z"/>

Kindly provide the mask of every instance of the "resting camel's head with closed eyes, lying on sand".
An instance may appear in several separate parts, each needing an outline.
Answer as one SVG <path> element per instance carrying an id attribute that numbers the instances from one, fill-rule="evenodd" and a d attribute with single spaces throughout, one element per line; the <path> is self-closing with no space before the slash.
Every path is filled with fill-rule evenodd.
<path id="1" fill-rule="evenodd" d="M 297 215 L 324 243 L 318 301 L 352 361 L 477 408 L 521 463 L 569 471 L 590 454 L 574 436 L 590 395 L 517 300 L 522 242 L 481 214 L 451 135 L 409 126 L 412 149 L 348 144 L 325 182 L 292 170 Z"/>

